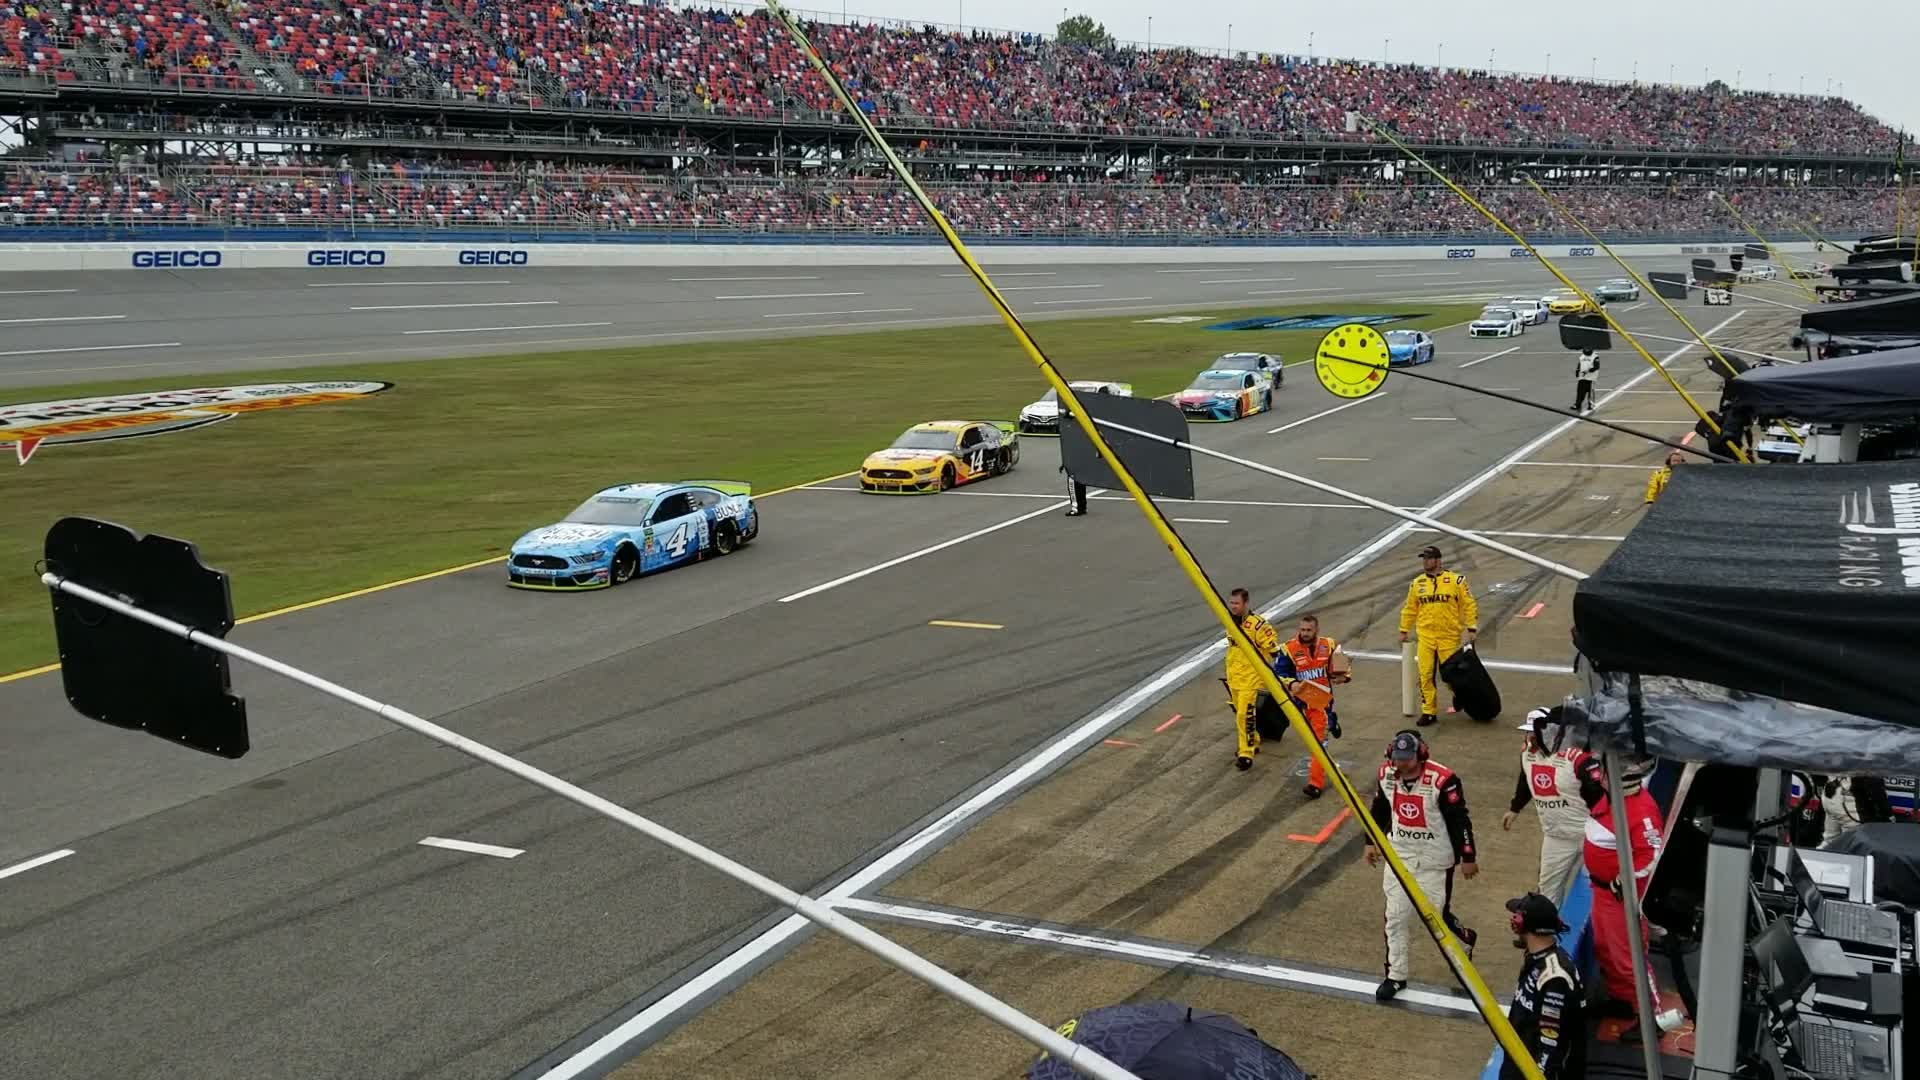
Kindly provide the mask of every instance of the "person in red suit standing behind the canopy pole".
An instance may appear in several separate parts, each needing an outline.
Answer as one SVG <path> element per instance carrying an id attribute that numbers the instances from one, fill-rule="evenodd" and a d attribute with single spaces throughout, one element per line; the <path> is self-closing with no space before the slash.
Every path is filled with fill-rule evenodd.
<path id="1" fill-rule="evenodd" d="M 1634 999 L 1634 955 L 1626 944 L 1624 897 L 1628 880 L 1636 896 L 1647 896 L 1647 882 L 1653 878 L 1653 861 L 1661 853 L 1661 836 L 1665 832 L 1661 807 L 1644 786 L 1651 771 L 1653 759 L 1632 761 L 1620 767 L 1630 867 L 1620 865 L 1620 840 L 1613 834 L 1613 801 L 1607 798 L 1603 769 L 1596 767 L 1592 776 L 1580 784 L 1590 809 L 1584 846 L 1586 876 L 1594 880 L 1594 915 L 1588 926 L 1594 930 L 1594 955 L 1599 961 L 1601 984 L 1607 988 L 1609 1001 L 1605 1011 L 1617 1017 L 1638 1015 Z M 1640 920 L 1640 940 L 1647 940 L 1645 919 Z M 1651 963 L 1644 974 L 1649 990 L 1657 988 Z M 1622 1036 L 1620 1042 L 1626 1040 L 1628 1036 Z"/>

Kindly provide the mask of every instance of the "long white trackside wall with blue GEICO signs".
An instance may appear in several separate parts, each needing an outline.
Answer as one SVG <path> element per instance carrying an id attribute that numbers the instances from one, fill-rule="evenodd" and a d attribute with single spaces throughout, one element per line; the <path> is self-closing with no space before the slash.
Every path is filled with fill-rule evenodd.
<path id="1" fill-rule="evenodd" d="M 1580 244 L 1540 248 L 1555 263 L 1605 258 Z M 1718 256 L 1726 244 L 1617 244 L 1630 258 Z M 1786 254 L 1812 254 L 1812 244 L 1780 244 Z M 995 265 L 1044 263 L 1371 263 L 1371 261 L 1511 261 L 1532 258 L 1519 246 L 981 246 Z M 766 267 L 766 265 L 952 265 L 937 244 L 419 244 L 419 242 L 200 242 L 138 244 L 0 244 L 0 271 L 221 271 L 221 269 L 353 269 L 369 267 Z"/>

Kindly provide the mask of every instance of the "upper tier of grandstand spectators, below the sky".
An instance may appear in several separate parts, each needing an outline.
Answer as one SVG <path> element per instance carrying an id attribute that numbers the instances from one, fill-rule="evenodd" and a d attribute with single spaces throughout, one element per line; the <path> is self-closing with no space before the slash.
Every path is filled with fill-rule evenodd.
<path id="1" fill-rule="evenodd" d="M 950 129 L 1354 138 L 1365 136 L 1354 119 L 1363 113 L 1448 144 L 1885 156 L 1895 138 L 1837 98 L 1718 85 L 1094 50 L 935 27 L 829 23 L 812 33 L 864 111 Z M 0 0 L 6 69 L 716 117 L 835 110 L 764 12 L 624 0 Z"/>

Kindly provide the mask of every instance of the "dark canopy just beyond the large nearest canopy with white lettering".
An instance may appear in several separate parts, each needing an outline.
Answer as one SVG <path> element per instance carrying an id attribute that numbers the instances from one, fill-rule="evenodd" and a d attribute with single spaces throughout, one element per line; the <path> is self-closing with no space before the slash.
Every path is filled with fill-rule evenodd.
<path id="1" fill-rule="evenodd" d="M 1732 427 L 1757 419 L 1882 423 L 1920 417 L 1920 348 L 1749 367 L 1720 390 Z"/>

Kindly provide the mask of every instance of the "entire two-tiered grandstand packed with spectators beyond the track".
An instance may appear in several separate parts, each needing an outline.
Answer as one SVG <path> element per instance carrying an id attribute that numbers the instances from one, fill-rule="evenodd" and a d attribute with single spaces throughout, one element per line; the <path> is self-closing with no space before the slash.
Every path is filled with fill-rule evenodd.
<path id="1" fill-rule="evenodd" d="M 1517 225 L 1526 167 L 1609 238 L 1880 227 L 1895 135 L 1839 98 L 1271 54 L 1094 50 L 818 15 L 972 236 L 1484 236 L 1367 111 Z M 927 229 L 756 10 L 547 0 L 0 0 L 0 229 Z"/>

